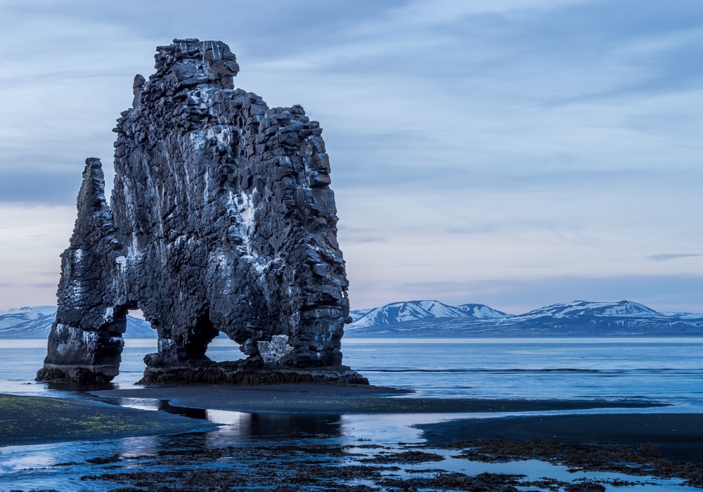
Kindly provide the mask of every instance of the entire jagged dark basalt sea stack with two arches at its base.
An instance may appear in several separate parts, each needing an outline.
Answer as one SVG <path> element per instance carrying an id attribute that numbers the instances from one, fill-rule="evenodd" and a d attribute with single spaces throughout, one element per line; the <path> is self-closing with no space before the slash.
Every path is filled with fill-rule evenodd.
<path id="1" fill-rule="evenodd" d="M 342 365 L 348 282 L 318 122 L 234 89 L 221 41 L 175 39 L 155 58 L 114 130 L 110 205 L 86 160 L 37 379 L 111 380 L 141 309 L 159 336 L 145 383 L 368 384 Z M 210 361 L 219 332 L 248 357 Z"/>

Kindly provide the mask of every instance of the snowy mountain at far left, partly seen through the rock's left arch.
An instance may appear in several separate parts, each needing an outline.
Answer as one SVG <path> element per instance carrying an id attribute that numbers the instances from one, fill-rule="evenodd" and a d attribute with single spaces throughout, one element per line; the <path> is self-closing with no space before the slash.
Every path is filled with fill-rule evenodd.
<path id="1" fill-rule="evenodd" d="M 26 306 L 0 311 L 0 338 L 47 338 L 56 319 L 56 306 Z M 127 316 L 127 338 L 156 338 L 150 323 Z"/>

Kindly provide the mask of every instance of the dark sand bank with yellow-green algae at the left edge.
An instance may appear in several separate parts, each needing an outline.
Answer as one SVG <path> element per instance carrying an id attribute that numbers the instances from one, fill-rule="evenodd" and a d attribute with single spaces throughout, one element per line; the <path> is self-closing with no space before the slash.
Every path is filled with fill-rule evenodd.
<path id="1" fill-rule="evenodd" d="M 0 446 L 214 429 L 204 420 L 91 401 L 0 394 Z"/>

